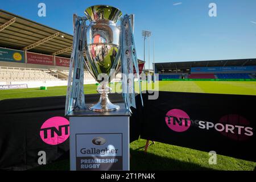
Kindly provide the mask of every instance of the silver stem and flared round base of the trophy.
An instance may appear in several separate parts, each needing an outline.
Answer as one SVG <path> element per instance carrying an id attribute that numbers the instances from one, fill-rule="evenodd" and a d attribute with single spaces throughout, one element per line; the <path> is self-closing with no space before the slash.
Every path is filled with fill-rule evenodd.
<path id="1" fill-rule="evenodd" d="M 112 102 L 110 102 L 108 97 L 108 93 L 110 93 L 110 91 L 111 88 L 106 85 L 99 86 L 97 92 L 101 94 L 100 100 L 96 105 L 89 106 L 89 109 L 98 112 L 113 111 L 119 109 L 120 107 L 118 105 L 114 105 Z"/>

